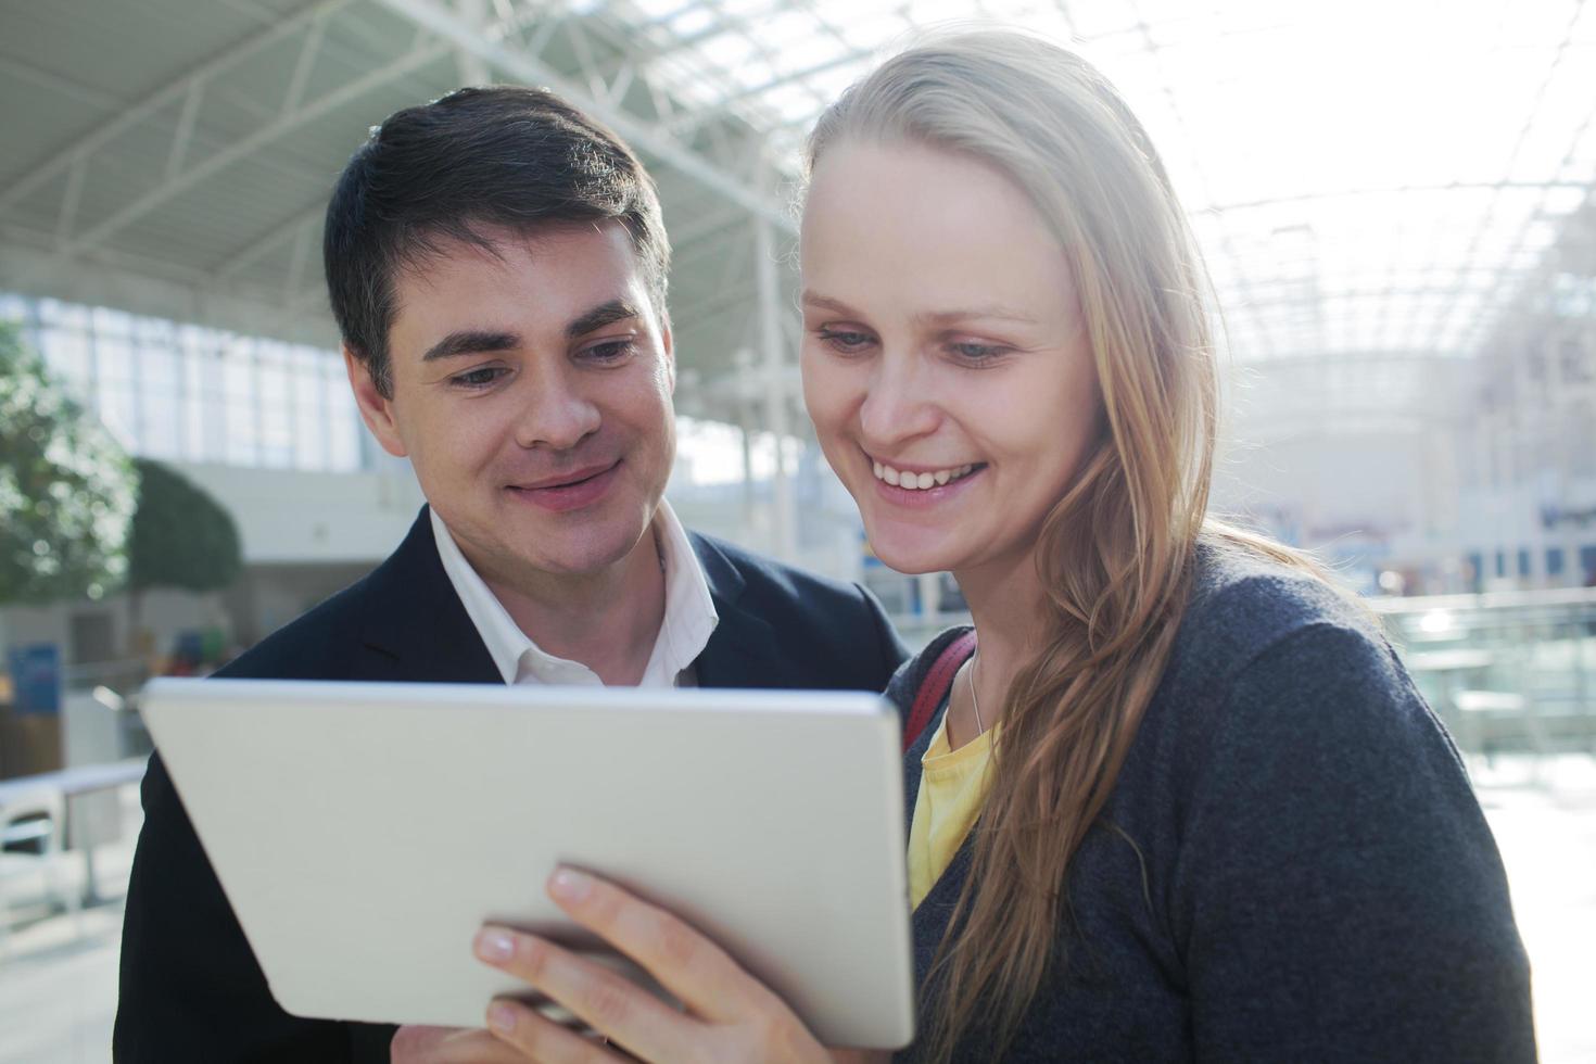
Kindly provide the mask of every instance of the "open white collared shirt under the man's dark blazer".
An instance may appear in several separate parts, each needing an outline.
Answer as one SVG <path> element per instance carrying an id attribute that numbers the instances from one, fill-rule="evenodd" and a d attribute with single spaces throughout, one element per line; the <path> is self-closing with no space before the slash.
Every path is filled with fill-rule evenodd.
<path id="1" fill-rule="evenodd" d="M 493 656 L 504 683 L 543 684 L 602 684 L 603 681 L 587 665 L 549 654 L 520 630 L 504 605 L 488 589 L 466 555 L 460 552 L 444 518 L 429 509 L 433 539 L 437 557 L 444 563 L 448 582 L 455 585 L 466 614 Z M 666 566 L 666 617 L 659 624 L 659 636 L 643 668 L 640 688 L 691 688 L 696 684 L 693 662 L 709 644 L 709 636 L 720 622 L 715 603 L 709 593 L 704 566 L 699 565 L 686 530 L 677 520 L 675 510 L 664 499 L 654 512 L 650 533 L 659 542 L 661 562 Z"/>

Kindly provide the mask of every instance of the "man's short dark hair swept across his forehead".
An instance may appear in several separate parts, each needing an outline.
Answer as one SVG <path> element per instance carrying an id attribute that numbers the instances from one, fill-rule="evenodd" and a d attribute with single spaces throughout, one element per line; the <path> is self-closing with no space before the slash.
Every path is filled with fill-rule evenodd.
<path id="1" fill-rule="evenodd" d="M 543 89 L 492 86 L 396 112 L 343 167 L 322 231 L 343 343 L 393 394 L 397 271 L 445 241 L 492 249 L 493 230 L 621 222 L 666 317 L 670 244 L 654 182 L 621 140 Z"/>

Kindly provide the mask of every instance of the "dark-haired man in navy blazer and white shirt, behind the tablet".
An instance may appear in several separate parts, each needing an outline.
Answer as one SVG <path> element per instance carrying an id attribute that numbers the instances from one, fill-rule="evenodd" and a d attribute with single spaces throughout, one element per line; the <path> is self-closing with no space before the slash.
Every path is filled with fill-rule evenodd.
<path id="1" fill-rule="evenodd" d="M 399 112 L 338 180 L 324 255 L 361 413 L 428 507 L 222 675 L 886 684 L 905 651 L 870 595 L 689 534 L 664 502 L 669 247 L 610 132 L 517 88 Z M 271 999 L 160 756 L 144 807 L 115 1058 L 386 1061 L 391 1027 Z"/>

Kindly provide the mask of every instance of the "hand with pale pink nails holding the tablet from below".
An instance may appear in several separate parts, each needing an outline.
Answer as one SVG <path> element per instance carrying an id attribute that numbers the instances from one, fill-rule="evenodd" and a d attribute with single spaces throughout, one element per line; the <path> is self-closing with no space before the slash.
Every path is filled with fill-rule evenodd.
<path id="1" fill-rule="evenodd" d="M 484 927 L 476 940 L 479 959 L 530 983 L 600 1035 L 563 1027 L 520 1002 L 495 1000 L 488 1007 L 488 1031 L 528 1059 L 597 1062 L 626 1061 L 627 1054 L 653 1064 L 886 1059 L 884 1053 L 833 1054 L 785 1002 L 720 946 L 614 884 L 562 868 L 549 879 L 549 897 L 573 920 L 642 965 L 686 1011 L 544 938 Z"/>

